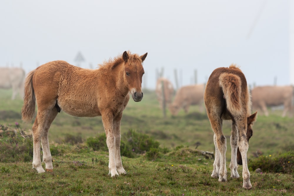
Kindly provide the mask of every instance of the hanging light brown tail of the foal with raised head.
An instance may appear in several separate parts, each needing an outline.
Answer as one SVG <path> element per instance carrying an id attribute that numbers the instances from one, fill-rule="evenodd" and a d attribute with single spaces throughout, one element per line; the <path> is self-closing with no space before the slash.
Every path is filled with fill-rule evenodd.
<path id="1" fill-rule="evenodd" d="M 36 97 L 33 88 L 33 76 L 35 70 L 31 71 L 26 77 L 24 84 L 24 105 L 21 108 L 22 120 L 30 123 L 35 115 Z"/>

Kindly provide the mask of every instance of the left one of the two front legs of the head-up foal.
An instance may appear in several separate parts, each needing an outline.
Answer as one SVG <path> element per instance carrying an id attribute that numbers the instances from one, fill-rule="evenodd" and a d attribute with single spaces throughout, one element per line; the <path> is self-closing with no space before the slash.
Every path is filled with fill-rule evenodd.
<path id="1" fill-rule="evenodd" d="M 109 163 L 108 163 L 108 169 L 109 173 L 108 175 L 111 175 L 111 177 L 118 175 L 118 172 L 116 171 L 116 162 L 115 162 L 115 137 L 113 133 L 113 114 L 111 111 L 106 111 L 101 114 L 102 115 L 102 121 L 106 133 L 106 144 L 108 147 L 108 153 L 109 153 Z"/>

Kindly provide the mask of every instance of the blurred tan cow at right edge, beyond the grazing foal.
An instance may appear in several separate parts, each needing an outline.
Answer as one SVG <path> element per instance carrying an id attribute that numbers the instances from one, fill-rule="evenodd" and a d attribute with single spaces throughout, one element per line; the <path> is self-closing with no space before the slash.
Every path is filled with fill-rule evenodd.
<path id="1" fill-rule="evenodd" d="M 284 105 L 283 117 L 289 111 L 293 113 L 293 86 L 258 86 L 253 88 L 252 107 L 260 109 L 268 116 L 268 106 Z"/>

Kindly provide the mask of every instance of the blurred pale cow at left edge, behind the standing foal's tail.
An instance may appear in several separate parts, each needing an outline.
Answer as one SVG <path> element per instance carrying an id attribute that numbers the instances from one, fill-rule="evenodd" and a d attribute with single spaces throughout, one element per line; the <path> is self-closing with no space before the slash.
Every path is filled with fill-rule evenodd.
<path id="1" fill-rule="evenodd" d="M 12 97 L 15 99 L 17 93 L 24 97 L 24 78 L 26 74 L 22 68 L 17 67 L 0 67 L 0 88 L 12 88 Z"/>

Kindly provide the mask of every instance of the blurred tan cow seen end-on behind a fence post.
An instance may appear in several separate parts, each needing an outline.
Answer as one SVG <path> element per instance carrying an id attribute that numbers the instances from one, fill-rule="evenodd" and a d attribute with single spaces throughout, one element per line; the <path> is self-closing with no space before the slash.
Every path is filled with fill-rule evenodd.
<path id="1" fill-rule="evenodd" d="M 163 88 L 164 86 L 164 88 Z M 166 78 L 158 78 L 157 83 L 156 83 L 156 96 L 157 100 L 159 102 L 160 108 L 163 108 L 163 92 L 162 88 L 164 91 L 164 101 L 167 106 L 169 106 L 172 102 L 173 98 L 173 84 Z"/>

